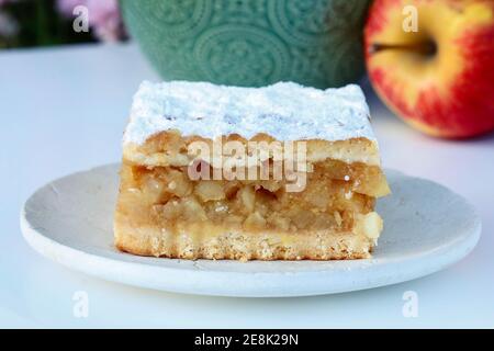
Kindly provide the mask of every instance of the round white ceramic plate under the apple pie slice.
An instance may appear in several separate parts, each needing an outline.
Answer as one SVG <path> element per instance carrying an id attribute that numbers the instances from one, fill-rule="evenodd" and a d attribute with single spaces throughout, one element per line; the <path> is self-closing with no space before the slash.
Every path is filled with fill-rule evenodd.
<path id="1" fill-rule="evenodd" d="M 481 220 L 450 190 L 388 170 L 393 194 L 379 201 L 384 231 L 373 258 L 355 261 L 188 261 L 145 258 L 113 247 L 119 165 L 56 180 L 21 213 L 24 238 L 41 254 L 71 269 L 125 284 L 221 296 L 306 296 L 349 292 L 416 279 L 464 258 Z"/>

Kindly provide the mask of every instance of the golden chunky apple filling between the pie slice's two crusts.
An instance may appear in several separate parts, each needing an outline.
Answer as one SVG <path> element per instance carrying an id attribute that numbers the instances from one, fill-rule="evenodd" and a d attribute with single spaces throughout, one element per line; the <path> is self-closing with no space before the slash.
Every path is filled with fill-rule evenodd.
<path id="1" fill-rule="evenodd" d="M 134 228 L 158 227 L 193 241 L 224 233 L 379 237 L 374 196 L 388 191 L 379 167 L 325 160 L 306 176 L 304 190 L 288 192 L 284 180 L 193 181 L 187 167 L 125 162 L 117 211 Z"/>

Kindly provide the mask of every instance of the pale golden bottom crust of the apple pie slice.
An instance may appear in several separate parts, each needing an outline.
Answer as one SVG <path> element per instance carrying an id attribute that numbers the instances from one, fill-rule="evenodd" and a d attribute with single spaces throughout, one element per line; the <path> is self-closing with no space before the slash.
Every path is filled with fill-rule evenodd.
<path id="1" fill-rule="evenodd" d="M 373 240 L 353 233 L 191 235 L 117 226 L 115 246 L 134 254 L 176 259 L 345 260 L 370 258 Z"/>

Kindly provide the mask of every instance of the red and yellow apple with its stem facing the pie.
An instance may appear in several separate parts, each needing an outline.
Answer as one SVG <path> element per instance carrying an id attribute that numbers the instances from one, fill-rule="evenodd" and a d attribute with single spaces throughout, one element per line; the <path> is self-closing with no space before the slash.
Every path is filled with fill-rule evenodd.
<path id="1" fill-rule="evenodd" d="M 448 138 L 494 129 L 493 0 L 375 0 L 364 43 L 375 91 L 404 121 Z"/>

